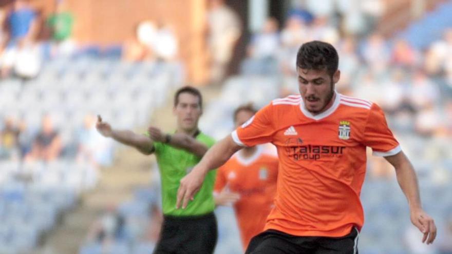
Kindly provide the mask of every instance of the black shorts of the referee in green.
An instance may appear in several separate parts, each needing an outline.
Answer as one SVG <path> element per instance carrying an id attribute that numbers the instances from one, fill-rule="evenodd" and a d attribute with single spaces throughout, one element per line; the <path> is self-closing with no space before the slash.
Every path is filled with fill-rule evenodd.
<path id="1" fill-rule="evenodd" d="M 213 212 L 203 216 L 163 216 L 154 254 L 211 254 L 217 237 L 217 219 Z"/>

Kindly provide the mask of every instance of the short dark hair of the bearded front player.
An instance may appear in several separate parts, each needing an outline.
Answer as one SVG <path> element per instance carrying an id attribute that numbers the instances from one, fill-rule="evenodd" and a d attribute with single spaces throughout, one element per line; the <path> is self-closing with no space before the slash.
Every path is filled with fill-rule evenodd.
<path id="1" fill-rule="evenodd" d="M 296 66 L 302 69 L 324 70 L 332 76 L 337 71 L 339 56 L 333 45 L 312 41 L 303 44 L 297 53 Z"/>

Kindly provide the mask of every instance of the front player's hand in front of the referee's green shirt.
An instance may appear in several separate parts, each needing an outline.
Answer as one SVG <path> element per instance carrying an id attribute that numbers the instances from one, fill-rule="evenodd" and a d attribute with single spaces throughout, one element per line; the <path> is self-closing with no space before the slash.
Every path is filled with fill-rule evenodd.
<path id="1" fill-rule="evenodd" d="M 180 180 L 180 186 L 177 190 L 176 208 L 185 209 L 189 201 L 194 199 L 195 194 L 199 191 L 204 181 L 206 172 L 201 168 L 193 168 L 193 170 Z"/>

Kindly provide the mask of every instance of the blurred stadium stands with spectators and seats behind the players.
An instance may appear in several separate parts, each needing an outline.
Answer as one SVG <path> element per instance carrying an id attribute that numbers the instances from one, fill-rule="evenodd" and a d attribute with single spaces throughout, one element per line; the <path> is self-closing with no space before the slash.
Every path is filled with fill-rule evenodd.
<path id="1" fill-rule="evenodd" d="M 393 169 L 369 156 L 360 253 L 452 253 L 451 1 L 107 2 L 0 1 L 0 253 L 150 253 L 161 214 L 158 170 L 145 158 L 144 186 L 66 236 L 83 241 L 54 237 L 105 174 L 132 170 L 115 171 L 133 151 L 102 138 L 95 116 L 171 128 L 159 111 L 189 83 L 208 97 L 201 129 L 220 139 L 238 105 L 298 93 L 296 52 L 311 40 L 338 50 L 339 92 L 385 110 L 439 228 L 434 245 L 421 244 Z M 216 252 L 239 253 L 231 209 L 217 217 Z"/>

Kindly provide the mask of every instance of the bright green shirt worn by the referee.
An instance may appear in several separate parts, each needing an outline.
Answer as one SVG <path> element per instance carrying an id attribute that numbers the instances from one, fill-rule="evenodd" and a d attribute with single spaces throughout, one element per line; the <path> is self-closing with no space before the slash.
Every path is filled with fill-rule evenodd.
<path id="1" fill-rule="evenodd" d="M 214 139 L 202 132 L 196 135 L 196 140 L 209 148 L 215 143 Z M 215 209 L 213 188 L 216 170 L 211 170 L 206 174 L 201 189 L 185 209 L 176 209 L 177 190 L 179 189 L 180 180 L 198 164 L 201 158 L 165 143 L 154 142 L 154 148 L 162 183 L 163 214 L 170 216 L 197 216 L 212 212 Z"/>

